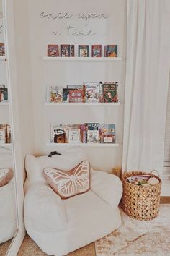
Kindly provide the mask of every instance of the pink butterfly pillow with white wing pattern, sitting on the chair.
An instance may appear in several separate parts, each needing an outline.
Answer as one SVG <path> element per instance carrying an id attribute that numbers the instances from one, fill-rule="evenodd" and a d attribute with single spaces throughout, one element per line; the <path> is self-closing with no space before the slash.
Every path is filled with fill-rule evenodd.
<path id="1" fill-rule="evenodd" d="M 46 181 L 62 199 L 73 197 L 89 190 L 89 161 L 82 161 L 70 171 L 45 168 Z"/>

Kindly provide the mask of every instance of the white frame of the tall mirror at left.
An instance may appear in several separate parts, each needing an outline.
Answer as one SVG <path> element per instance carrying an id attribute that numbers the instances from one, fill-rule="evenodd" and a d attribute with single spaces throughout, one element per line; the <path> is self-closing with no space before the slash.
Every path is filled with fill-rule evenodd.
<path id="1" fill-rule="evenodd" d="M 4 42 L 6 47 L 6 79 L 9 88 L 9 117 L 12 127 L 12 151 L 14 163 L 17 232 L 6 256 L 15 256 L 25 236 L 24 229 L 24 160 L 22 160 L 19 132 L 19 106 L 17 95 L 17 65 L 14 40 L 14 0 L 2 0 L 4 12 Z"/>

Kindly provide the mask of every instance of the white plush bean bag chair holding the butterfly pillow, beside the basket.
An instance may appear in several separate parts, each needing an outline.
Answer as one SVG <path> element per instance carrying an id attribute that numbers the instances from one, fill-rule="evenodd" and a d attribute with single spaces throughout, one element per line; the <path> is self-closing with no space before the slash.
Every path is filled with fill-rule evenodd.
<path id="1" fill-rule="evenodd" d="M 122 182 L 117 176 L 91 168 L 89 191 L 64 200 L 42 176 L 44 168 L 69 171 L 85 159 L 81 147 L 52 158 L 26 156 L 24 224 L 30 237 L 48 255 L 66 255 L 121 225 L 118 204 Z"/>

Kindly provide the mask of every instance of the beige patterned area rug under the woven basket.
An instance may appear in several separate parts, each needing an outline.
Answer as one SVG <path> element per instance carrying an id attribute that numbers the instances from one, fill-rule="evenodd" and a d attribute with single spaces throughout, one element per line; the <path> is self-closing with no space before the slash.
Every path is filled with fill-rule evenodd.
<path id="1" fill-rule="evenodd" d="M 97 256 L 170 255 L 170 205 L 160 205 L 158 217 L 137 221 L 122 210 L 122 226 L 95 242 Z"/>

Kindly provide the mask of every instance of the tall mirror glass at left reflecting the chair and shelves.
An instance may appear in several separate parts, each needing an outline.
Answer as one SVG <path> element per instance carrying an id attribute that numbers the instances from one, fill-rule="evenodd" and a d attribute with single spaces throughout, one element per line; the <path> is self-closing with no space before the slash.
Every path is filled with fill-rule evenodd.
<path id="1" fill-rule="evenodd" d="M 7 74 L 3 0 L 0 0 L 0 255 L 6 255 L 17 231 Z"/>

